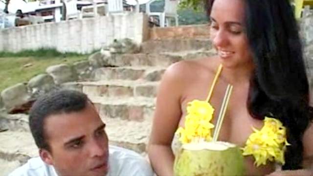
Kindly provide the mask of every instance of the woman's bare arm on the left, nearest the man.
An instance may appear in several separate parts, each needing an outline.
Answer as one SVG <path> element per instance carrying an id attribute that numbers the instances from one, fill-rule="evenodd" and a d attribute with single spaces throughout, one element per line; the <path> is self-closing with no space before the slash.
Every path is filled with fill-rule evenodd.
<path id="1" fill-rule="evenodd" d="M 181 117 L 180 100 L 185 64 L 170 66 L 162 77 L 148 145 L 151 164 L 158 176 L 173 176 L 174 154 L 171 143 Z"/>

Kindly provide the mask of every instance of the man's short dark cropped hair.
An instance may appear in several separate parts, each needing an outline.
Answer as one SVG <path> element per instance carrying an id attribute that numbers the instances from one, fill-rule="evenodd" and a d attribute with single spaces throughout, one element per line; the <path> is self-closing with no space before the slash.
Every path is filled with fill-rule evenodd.
<path id="1" fill-rule="evenodd" d="M 58 90 L 40 96 L 29 111 L 29 127 L 37 147 L 51 151 L 45 138 L 46 117 L 84 110 L 88 102 L 86 94 L 75 90 Z"/>

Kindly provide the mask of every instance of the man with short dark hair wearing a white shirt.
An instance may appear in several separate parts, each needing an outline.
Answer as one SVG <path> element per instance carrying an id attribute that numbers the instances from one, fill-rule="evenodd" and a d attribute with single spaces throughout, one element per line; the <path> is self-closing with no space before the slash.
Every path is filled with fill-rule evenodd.
<path id="1" fill-rule="evenodd" d="M 61 90 L 40 97 L 29 113 L 40 157 L 9 176 L 152 176 L 139 154 L 108 146 L 98 112 L 83 93 Z"/>

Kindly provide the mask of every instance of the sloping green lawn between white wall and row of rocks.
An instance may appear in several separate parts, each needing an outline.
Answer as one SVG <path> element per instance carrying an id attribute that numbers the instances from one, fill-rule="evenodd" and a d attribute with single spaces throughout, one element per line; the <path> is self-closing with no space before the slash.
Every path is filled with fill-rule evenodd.
<path id="1" fill-rule="evenodd" d="M 48 66 L 57 64 L 71 65 L 74 62 L 87 60 L 88 58 L 87 55 L 73 53 L 73 55 L 63 55 L 65 53 L 58 55 L 58 53 L 50 51 L 49 53 L 43 53 L 43 50 L 37 50 L 34 51 L 35 55 L 31 55 L 31 51 L 22 51 L 15 53 L 15 55 L 0 57 L 0 91 L 17 83 L 27 82 L 40 73 L 45 73 Z M 3 53 L 0 52 L 0 55 Z"/>

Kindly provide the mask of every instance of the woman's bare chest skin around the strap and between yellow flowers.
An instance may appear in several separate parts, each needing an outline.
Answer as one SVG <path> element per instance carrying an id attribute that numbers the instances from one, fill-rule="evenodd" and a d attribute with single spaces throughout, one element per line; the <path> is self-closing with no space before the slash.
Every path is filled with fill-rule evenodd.
<path id="1" fill-rule="evenodd" d="M 179 126 L 183 127 L 185 122 L 185 116 L 187 115 L 187 107 L 193 100 L 206 101 L 208 96 L 208 88 L 205 86 L 197 86 L 189 88 L 183 96 L 180 107 L 181 107 L 181 118 Z M 221 105 L 226 90 L 226 84 L 220 82 L 216 85 L 209 103 L 214 109 L 213 118 L 211 123 L 216 125 L 219 113 L 221 111 Z M 239 146 L 244 146 L 246 139 L 253 132 L 252 127 L 262 128 L 263 121 L 254 119 L 249 114 L 247 109 L 247 97 L 248 97 L 248 86 L 246 87 L 234 87 L 230 95 L 229 103 L 224 116 L 222 128 L 219 134 L 219 140 L 228 141 Z"/>

